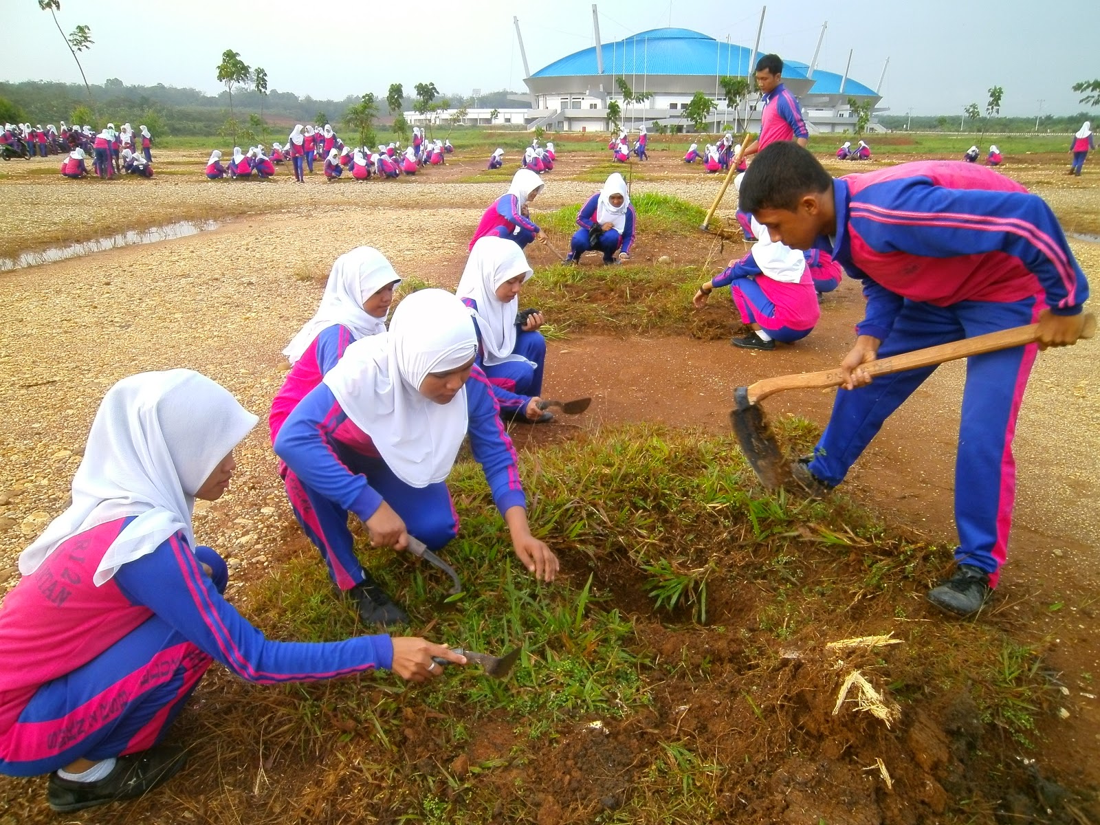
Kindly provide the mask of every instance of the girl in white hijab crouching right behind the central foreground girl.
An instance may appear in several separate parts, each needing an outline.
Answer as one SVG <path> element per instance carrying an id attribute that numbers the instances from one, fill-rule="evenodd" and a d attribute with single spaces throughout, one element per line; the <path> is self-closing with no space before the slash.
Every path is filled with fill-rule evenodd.
<path id="1" fill-rule="evenodd" d="M 473 312 L 474 363 L 493 385 L 501 416 L 546 424 L 553 414 L 538 408 L 547 360 L 542 314 L 519 315 L 519 292 L 532 274 L 519 246 L 490 235 L 474 244 L 455 294 Z"/>

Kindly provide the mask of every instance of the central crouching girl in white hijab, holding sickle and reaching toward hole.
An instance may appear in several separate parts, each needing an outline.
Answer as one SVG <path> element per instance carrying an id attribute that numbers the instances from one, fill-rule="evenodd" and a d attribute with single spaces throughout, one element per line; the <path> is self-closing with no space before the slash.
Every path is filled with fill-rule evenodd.
<path id="1" fill-rule="evenodd" d="M 375 547 L 404 550 L 411 535 L 440 549 L 458 534 L 446 481 L 468 433 L 516 556 L 540 580 L 558 573 L 557 557 L 531 536 L 516 452 L 488 378 L 474 366 L 476 351 L 461 300 L 442 289 L 413 293 L 388 332 L 346 349 L 275 439 L 298 484 L 293 498 L 317 516 L 306 532 L 364 624 L 408 616 L 360 564 L 349 513 Z"/>

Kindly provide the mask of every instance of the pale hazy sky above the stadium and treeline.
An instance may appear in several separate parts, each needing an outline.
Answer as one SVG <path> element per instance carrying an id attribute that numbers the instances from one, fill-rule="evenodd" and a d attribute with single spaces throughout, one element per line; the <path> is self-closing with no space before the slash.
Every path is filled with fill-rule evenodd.
<path id="1" fill-rule="evenodd" d="M 333 7 L 336 15 L 328 13 Z M 96 43 L 82 55 L 91 82 L 118 77 L 217 92 L 216 67 L 221 53 L 233 48 L 249 65 L 267 70 L 272 89 L 339 99 L 384 94 L 391 82 L 410 91 L 428 80 L 443 92 L 526 91 L 513 15 L 519 15 L 527 58 L 537 72 L 593 44 L 591 7 L 591 0 L 454 0 L 429 4 L 425 18 L 424 3 L 398 0 L 372 4 L 395 11 L 382 26 L 374 11 L 352 22 L 358 2 L 64 0 L 58 20 L 66 33 L 78 23 L 91 26 Z M 416 9 L 416 18 L 403 14 L 406 8 Z M 718 40 L 728 34 L 751 48 L 761 4 L 604 0 L 598 8 L 604 42 L 671 23 Z M 0 0 L 0 79 L 80 80 L 48 12 L 34 0 Z M 893 113 L 910 107 L 916 114 L 955 113 L 969 102 L 985 107 L 993 85 L 1004 88 L 1003 114 L 1035 114 L 1041 98 L 1044 112 L 1071 113 L 1082 107 L 1070 86 L 1100 77 L 1094 0 L 772 1 L 761 50 L 810 63 L 826 20 L 818 66 L 843 74 L 848 50 L 855 48 L 851 77 L 875 88 L 889 57 L 882 95 Z"/>

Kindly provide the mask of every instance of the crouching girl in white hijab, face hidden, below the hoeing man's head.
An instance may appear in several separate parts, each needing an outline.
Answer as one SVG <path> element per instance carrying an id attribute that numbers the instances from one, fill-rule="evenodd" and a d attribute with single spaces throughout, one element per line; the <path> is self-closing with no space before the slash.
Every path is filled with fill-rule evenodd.
<path id="1" fill-rule="evenodd" d="M 730 343 L 744 350 L 774 350 L 776 341 L 794 343 L 809 336 L 821 307 L 803 253 L 772 243 L 762 227 L 756 231 L 760 240 L 749 254 L 703 284 L 692 304 L 702 309 L 714 289 L 728 286 L 741 323 L 751 328 Z"/>

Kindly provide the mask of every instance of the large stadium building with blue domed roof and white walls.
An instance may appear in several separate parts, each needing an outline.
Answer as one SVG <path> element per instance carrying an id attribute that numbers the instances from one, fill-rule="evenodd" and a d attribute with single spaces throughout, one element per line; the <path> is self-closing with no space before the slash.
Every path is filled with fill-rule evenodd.
<path id="1" fill-rule="evenodd" d="M 855 118 L 848 98 L 860 103 L 869 100 L 876 107 L 882 99 L 875 89 L 851 77 L 820 68 L 811 74 L 809 64 L 781 56 L 783 82 L 802 103 L 812 132 L 853 131 Z M 550 131 L 607 131 L 607 103 L 615 100 L 624 125 L 650 125 L 656 121 L 690 129 L 683 110 L 695 92 L 702 91 L 718 103 L 712 123 L 745 128 L 744 118 L 751 102 L 739 112 L 727 110 L 717 80 L 725 76 L 748 77 L 751 64 L 751 48 L 689 29 L 653 29 L 604 43 L 598 57 L 595 46 L 574 52 L 526 78 L 531 108 L 525 112 L 525 123 L 529 129 L 543 127 Z M 624 102 L 615 82 L 618 77 L 625 78 L 635 94 L 650 92 L 652 97 L 645 103 Z M 757 109 L 752 121 L 759 120 Z M 873 117 L 869 129 L 884 131 Z"/>

